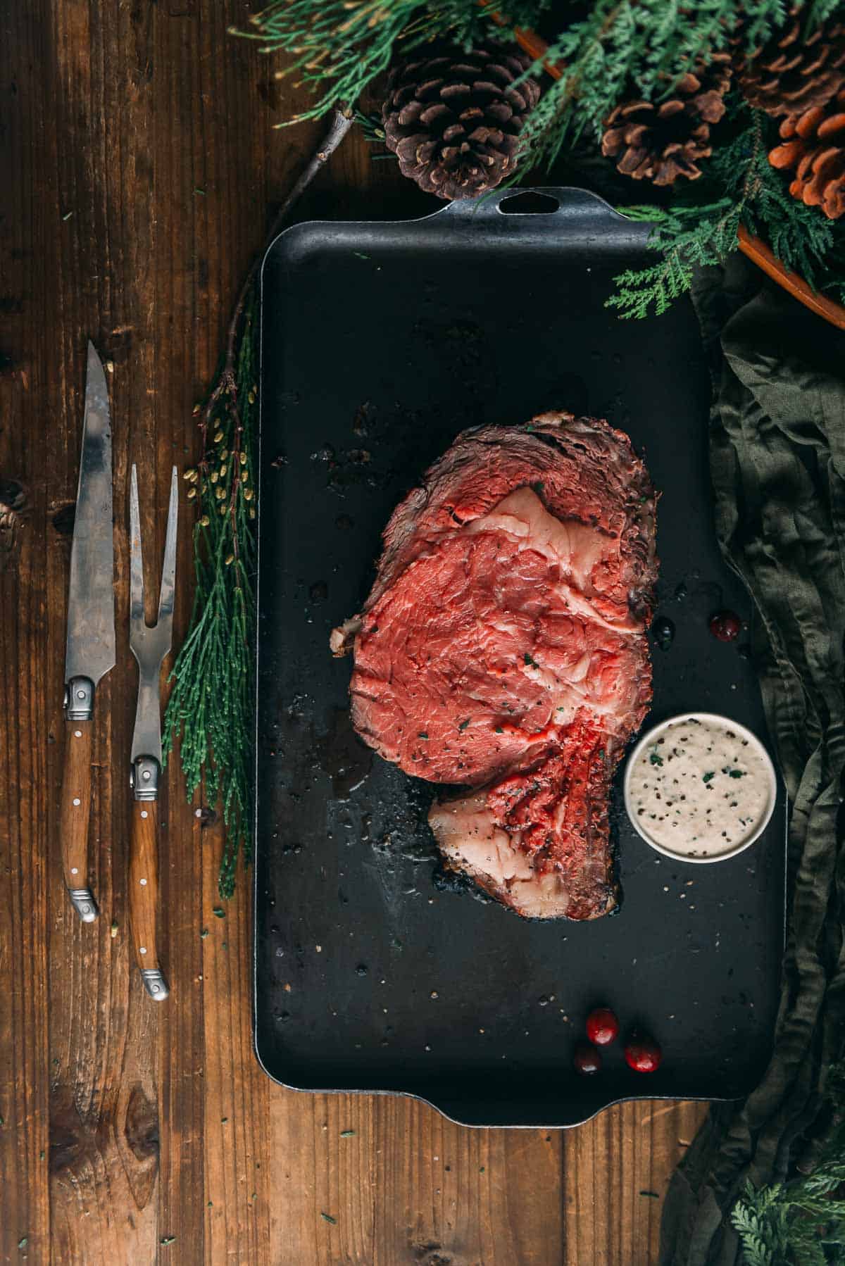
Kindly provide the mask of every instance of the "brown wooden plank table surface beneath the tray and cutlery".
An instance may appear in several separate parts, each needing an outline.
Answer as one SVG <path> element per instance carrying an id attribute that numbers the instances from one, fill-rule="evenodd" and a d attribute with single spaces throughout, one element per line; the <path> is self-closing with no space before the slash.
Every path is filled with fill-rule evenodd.
<path id="1" fill-rule="evenodd" d="M 626 1104 L 569 1132 L 466 1129 L 403 1099 L 285 1091 L 260 1071 L 248 884 L 212 915 L 220 837 L 176 767 L 161 842 L 172 993 L 163 1005 L 144 995 L 125 900 L 124 530 L 92 768 L 101 917 L 82 925 L 71 912 L 58 793 L 86 341 L 111 366 L 117 522 L 137 461 L 152 577 L 170 467 L 198 457 L 191 406 L 238 281 L 322 125 L 272 130 L 304 97 L 227 35 L 247 15 L 236 0 L 0 9 L 0 490 L 25 492 L 0 529 L 0 1260 L 656 1261 L 661 1196 L 701 1105 Z M 300 214 L 429 208 L 353 134 Z M 182 530 L 176 641 L 190 576 Z"/>

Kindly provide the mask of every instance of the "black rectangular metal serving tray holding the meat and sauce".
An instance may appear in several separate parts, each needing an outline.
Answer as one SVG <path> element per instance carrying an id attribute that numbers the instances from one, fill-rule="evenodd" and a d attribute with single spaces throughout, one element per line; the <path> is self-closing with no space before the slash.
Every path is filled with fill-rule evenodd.
<path id="1" fill-rule="evenodd" d="M 749 600 L 715 538 L 709 386 L 688 301 L 650 320 L 604 306 L 654 262 L 647 227 L 600 199 L 512 194 L 405 223 L 283 233 L 262 275 L 255 1041 L 302 1090 L 418 1095 L 474 1125 L 571 1125 L 636 1096 L 730 1099 L 770 1053 L 784 938 L 784 804 L 758 844 L 673 862 L 614 790 L 618 917 L 528 923 L 443 886 L 432 787 L 352 733 L 357 611 L 397 501 L 455 436 L 543 409 L 608 418 L 645 454 L 659 506 L 649 723 L 725 713 L 765 738 L 753 665 L 707 629 Z M 741 638 L 740 643 L 746 638 Z M 637 1075 L 618 1044 L 571 1067 L 587 1012 L 613 1006 L 663 1044 Z"/>

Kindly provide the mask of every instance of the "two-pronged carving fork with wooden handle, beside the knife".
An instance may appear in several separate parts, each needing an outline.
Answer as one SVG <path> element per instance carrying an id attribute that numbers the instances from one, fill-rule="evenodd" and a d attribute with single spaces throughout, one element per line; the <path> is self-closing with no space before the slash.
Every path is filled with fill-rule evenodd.
<path id="1" fill-rule="evenodd" d="M 158 963 L 156 915 L 158 910 L 158 782 L 161 779 L 161 698 L 160 676 L 170 651 L 174 625 L 174 590 L 176 581 L 176 518 L 179 481 L 176 467 L 170 484 L 170 509 L 165 539 L 165 566 L 161 573 L 158 620 L 148 625 L 144 619 L 143 558 L 141 552 L 141 515 L 138 511 L 138 475 L 132 467 L 129 500 L 130 538 L 130 609 L 129 646 L 138 661 L 138 709 L 132 736 L 132 767 L 129 781 L 133 791 L 132 837 L 129 846 L 129 924 L 141 977 L 151 998 L 167 998 L 168 989 Z"/>

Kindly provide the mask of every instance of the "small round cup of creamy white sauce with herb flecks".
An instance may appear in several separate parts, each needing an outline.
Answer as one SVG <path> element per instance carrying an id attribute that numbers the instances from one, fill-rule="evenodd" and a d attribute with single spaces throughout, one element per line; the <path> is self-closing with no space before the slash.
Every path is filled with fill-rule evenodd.
<path id="1" fill-rule="evenodd" d="M 772 799 L 769 766 L 730 723 L 680 720 L 637 756 L 630 774 L 631 815 L 673 853 L 717 857 L 756 832 Z"/>

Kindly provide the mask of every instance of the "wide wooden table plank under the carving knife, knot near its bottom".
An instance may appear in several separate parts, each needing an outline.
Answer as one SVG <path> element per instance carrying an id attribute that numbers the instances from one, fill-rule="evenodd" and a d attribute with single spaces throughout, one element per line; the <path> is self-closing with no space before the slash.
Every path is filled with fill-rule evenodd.
<path id="1" fill-rule="evenodd" d="M 127 551 L 124 419 L 147 403 L 147 367 L 115 361 L 111 330 L 143 313 L 133 267 L 149 249 L 149 232 L 129 237 L 123 210 L 129 195 L 122 138 L 143 148 L 148 101 L 125 92 L 114 75 L 111 41 L 117 0 L 43 0 L 49 30 L 41 67 L 44 118 L 53 137 L 44 192 L 56 229 L 47 235 L 43 279 L 49 332 L 42 347 L 52 428 L 33 427 L 47 444 L 42 463 L 51 500 L 76 492 L 84 354 L 92 337 L 109 363 L 114 425 L 115 591 L 118 662 L 98 691 L 94 733 L 91 879 L 101 915 L 84 927 L 67 910 L 58 871 L 58 815 L 44 806 L 51 827 L 51 1237 L 56 1261 L 151 1260 L 156 1253 L 155 1191 L 160 1129 L 156 1086 L 155 1004 L 139 980 L 129 981 L 127 844 L 130 734 L 129 663 L 125 630 Z M 133 43 L 128 49 L 136 49 Z M 132 73 L 132 57 L 122 71 Z M 122 92 L 122 89 L 124 90 Z M 132 186 L 139 225 L 151 220 L 149 189 Z M 125 313 L 129 313 L 127 322 Z M 42 403 L 43 406 L 43 403 Z M 33 419 L 34 422 L 35 419 Z M 58 439 L 52 436 L 57 433 Z M 48 700 L 60 722 L 68 537 L 49 537 L 47 573 L 51 611 Z M 51 776 L 51 785 L 54 774 Z M 111 936 L 114 925 L 115 936 Z"/>

